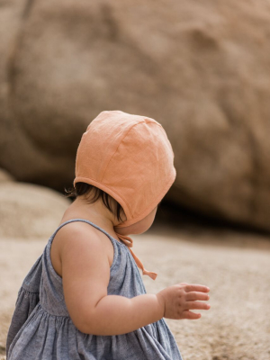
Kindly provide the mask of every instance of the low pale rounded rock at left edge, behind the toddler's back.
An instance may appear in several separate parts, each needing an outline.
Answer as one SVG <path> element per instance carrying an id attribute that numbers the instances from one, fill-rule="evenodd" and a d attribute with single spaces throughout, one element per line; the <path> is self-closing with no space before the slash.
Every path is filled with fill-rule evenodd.
<path id="1" fill-rule="evenodd" d="M 62 194 L 36 184 L 0 184 L 0 237 L 48 238 L 71 203 Z"/>

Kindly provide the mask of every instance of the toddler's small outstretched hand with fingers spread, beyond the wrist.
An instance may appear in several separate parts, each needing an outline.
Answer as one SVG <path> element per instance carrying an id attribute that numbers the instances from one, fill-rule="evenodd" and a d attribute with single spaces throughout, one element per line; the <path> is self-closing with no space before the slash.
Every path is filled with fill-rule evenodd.
<path id="1" fill-rule="evenodd" d="M 157 293 L 157 300 L 164 309 L 166 319 L 200 319 L 201 314 L 190 310 L 209 310 L 210 304 L 197 302 L 197 300 L 209 300 L 209 287 L 198 284 L 180 283 L 166 287 Z"/>

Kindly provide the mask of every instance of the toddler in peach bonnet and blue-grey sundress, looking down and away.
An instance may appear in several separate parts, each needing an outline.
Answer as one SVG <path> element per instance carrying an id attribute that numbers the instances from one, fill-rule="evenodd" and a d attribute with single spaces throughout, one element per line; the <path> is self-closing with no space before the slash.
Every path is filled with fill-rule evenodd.
<path id="1" fill-rule="evenodd" d="M 101 112 L 82 135 L 76 199 L 18 292 L 7 360 L 181 360 L 166 319 L 200 319 L 210 289 L 179 283 L 147 293 L 130 234 L 150 228 L 175 181 L 160 123 Z M 68 192 L 67 192 L 68 193 Z"/>

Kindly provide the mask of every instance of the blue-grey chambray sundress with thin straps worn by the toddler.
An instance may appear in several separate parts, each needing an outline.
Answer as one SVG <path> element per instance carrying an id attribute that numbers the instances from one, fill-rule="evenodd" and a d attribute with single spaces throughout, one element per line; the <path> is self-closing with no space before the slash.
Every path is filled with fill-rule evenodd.
<path id="1" fill-rule="evenodd" d="M 147 293 L 130 250 L 112 241 L 114 255 L 108 295 L 128 298 Z M 7 360 L 183 360 L 164 319 L 126 334 L 95 336 L 76 329 L 68 315 L 62 278 L 55 272 L 49 250 L 58 229 L 23 280 L 7 334 Z M 91 239 L 89 239 L 91 240 Z"/>

